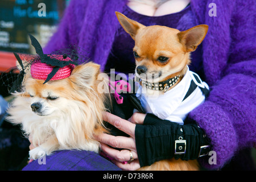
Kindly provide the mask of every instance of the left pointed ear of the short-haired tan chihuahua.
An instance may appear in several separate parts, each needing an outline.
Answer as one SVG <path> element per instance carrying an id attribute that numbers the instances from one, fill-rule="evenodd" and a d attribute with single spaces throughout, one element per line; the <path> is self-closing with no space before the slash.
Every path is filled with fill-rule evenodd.
<path id="1" fill-rule="evenodd" d="M 141 23 L 138 23 L 130 18 L 127 18 L 125 15 L 122 13 L 119 13 L 115 11 L 115 15 L 117 15 L 117 19 L 123 29 L 131 35 L 131 38 L 135 39 L 135 35 L 137 34 L 138 30 L 140 28 L 146 27 Z"/>

